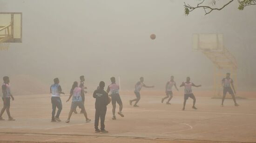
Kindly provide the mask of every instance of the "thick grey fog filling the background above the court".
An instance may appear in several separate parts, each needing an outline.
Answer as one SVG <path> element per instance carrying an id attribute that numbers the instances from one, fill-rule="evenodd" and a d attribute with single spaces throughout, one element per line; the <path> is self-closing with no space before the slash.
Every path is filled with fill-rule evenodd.
<path id="1" fill-rule="evenodd" d="M 188 3 L 197 0 L 184 0 Z M 23 42 L 0 51 L 0 77 L 26 75 L 50 86 L 59 77 L 68 91 L 85 75 L 89 91 L 121 77 L 132 90 L 141 76 L 164 90 L 171 75 L 211 89 L 213 63 L 192 50 L 193 33 L 223 33 L 238 62 L 239 89 L 256 84 L 256 7 L 236 2 L 204 15 L 184 15 L 183 0 L 0 0 L 0 12 L 23 12 Z M 150 34 L 156 35 L 155 40 Z M 20 83 L 29 84 L 29 83 Z M 48 92 L 48 91 L 46 91 Z"/>

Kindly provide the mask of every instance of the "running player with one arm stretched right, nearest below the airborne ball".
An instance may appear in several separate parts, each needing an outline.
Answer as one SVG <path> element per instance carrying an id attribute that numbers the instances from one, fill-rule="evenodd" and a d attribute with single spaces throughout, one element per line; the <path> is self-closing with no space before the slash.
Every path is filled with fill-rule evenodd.
<path id="1" fill-rule="evenodd" d="M 141 88 L 142 87 L 146 87 L 146 88 L 153 88 L 155 86 L 146 86 L 144 83 L 144 78 L 141 77 L 140 78 L 140 81 L 138 81 L 136 84 L 135 84 L 135 90 L 134 90 L 134 93 L 136 95 L 136 99 L 133 99 L 133 100 L 130 100 L 130 105 L 132 105 L 133 101 L 136 101 L 135 104 L 134 104 L 134 107 L 139 107 L 137 106 L 137 103 L 140 101 L 141 99 L 141 94 L 140 94 L 140 91 L 141 91 Z"/>

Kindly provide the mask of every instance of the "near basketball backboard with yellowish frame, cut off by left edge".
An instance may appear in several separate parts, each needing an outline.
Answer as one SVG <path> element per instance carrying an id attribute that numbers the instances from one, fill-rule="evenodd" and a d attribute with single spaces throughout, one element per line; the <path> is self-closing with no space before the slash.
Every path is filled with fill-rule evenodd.
<path id="1" fill-rule="evenodd" d="M 22 13 L 0 12 L 0 43 L 22 42 Z"/>

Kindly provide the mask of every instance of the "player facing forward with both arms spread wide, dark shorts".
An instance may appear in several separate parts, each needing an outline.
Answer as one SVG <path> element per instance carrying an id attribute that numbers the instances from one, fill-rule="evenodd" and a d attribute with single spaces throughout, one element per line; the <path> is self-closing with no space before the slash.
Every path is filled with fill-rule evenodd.
<path id="1" fill-rule="evenodd" d="M 201 85 L 196 86 L 194 83 L 190 82 L 190 77 L 187 77 L 187 81 L 186 82 L 182 82 L 180 87 L 185 87 L 184 89 L 184 103 L 183 103 L 183 109 L 185 110 L 185 106 L 186 106 L 186 101 L 187 99 L 192 98 L 193 101 L 193 109 L 197 109 L 195 107 L 195 95 L 192 93 L 192 87 L 201 87 Z"/>

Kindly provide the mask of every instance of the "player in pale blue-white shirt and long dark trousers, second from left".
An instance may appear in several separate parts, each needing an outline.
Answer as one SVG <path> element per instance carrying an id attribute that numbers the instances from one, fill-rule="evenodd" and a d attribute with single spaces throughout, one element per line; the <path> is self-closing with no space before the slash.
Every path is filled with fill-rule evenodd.
<path id="1" fill-rule="evenodd" d="M 61 119 L 60 119 L 60 114 L 62 110 L 61 94 L 65 94 L 65 93 L 62 92 L 62 89 L 59 83 L 60 83 L 59 79 L 54 78 L 54 84 L 50 87 L 50 93 L 52 93 L 51 100 L 52 100 L 52 107 L 53 107 L 52 122 L 56 122 L 56 121 L 61 122 Z M 58 111 L 55 116 L 56 107 L 58 108 Z"/>

